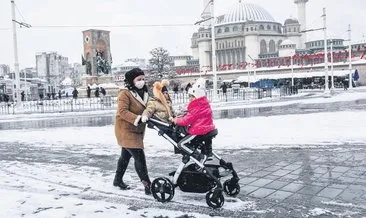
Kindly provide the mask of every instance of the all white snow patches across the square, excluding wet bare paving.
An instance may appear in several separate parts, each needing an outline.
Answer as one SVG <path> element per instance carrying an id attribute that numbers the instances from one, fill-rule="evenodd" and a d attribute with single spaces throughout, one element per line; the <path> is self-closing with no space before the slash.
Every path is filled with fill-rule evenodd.
<path id="1" fill-rule="evenodd" d="M 296 103 L 324 103 L 366 99 L 366 93 L 342 93 L 332 98 L 312 98 L 284 102 L 256 103 L 234 106 L 255 107 L 276 106 Z M 233 107 L 221 104 L 221 108 Z M 224 105 L 226 105 L 224 107 Z M 115 110 L 87 112 L 86 114 L 108 114 Z M 80 113 L 72 113 L 77 116 Z M 58 118 L 70 114 L 53 114 Z M 84 113 L 85 115 L 85 113 Z M 3 118 L 39 119 L 50 115 L 13 115 Z M 1 120 L 1 118 L 0 118 Z M 270 117 L 250 117 L 215 120 L 219 135 L 214 140 L 214 149 L 266 149 L 269 147 L 318 146 L 345 143 L 366 144 L 366 111 L 342 111 L 314 114 L 295 114 Z M 52 150 L 70 150 L 96 155 L 116 155 L 117 146 L 113 125 L 102 127 L 65 127 L 48 129 L 23 129 L 0 131 L 0 143 L 26 143 L 33 147 L 46 147 Z M 155 130 L 146 133 L 146 155 L 160 157 L 172 154 L 173 146 Z M 159 207 L 131 207 L 127 201 L 152 201 L 151 196 L 143 194 L 140 184 L 131 184 L 132 189 L 118 192 L 106 186 L 112 180 L 111 174 L 104 174 L 98 168 L 53 163 L 26 163 L 0 160 L 0 217 L 212 217 L 198 213 L 184 213 Z M 57 166 L 57 167 L 56 167 Z M 127 181 L 136 181 L 126 175 Z M 24 180 L 26 178 L 26 180 Z M 22 192 L 20 190 L 23 190 Z M 137 191 L 136 191 L 137 190 Z M 204 200 L 196 200 L 194 194 L 177 194 L 174 202 L 187 202 L 206 206 Z M 98 200 L 98 199 L 104 200 Z M 107 201 L 105 199 L 108 199 Z M 122 201 L 122 202 L 121 202 Z M 172 204 L 174 204 L 172 202 Z M 151 205 L 151 204 L 150 204 Z M 224 209 L 255 210 L 252 201 L 226 202 Z M 262 211 L 263 212 L 263 211 Z M 315 208 L 311 216 L 326 216 L 329 211 Z M 261 211 L 258 211 L 261 213 Z M 345 215 L 345 214 L 343 214 Z M 347 214 L 351 215 L 352 214 Z"/>

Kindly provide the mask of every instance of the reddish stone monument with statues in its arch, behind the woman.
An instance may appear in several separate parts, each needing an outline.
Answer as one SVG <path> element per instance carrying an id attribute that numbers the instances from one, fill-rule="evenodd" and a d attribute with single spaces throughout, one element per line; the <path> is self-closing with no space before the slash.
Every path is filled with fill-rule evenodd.
<path id="1" fill-rule="evenodd" d="M 111 74 L 112 63 L 109 31 L 83 31 L 85 72 L 90 76 Z"/>

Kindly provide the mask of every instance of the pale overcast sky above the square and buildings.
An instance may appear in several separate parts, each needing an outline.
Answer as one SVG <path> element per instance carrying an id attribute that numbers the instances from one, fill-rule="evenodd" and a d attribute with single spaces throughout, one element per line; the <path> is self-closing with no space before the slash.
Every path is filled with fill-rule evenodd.
<path id="1" fill-rule="evenodd" d="M 277 22 L 297 17 L 294 0 L 243 0 L 264 7 Z M 132 24 L 193 24 L 200 19 L 203 0 L 15 0 L 24 21 L 33 26 L 46 25 L 132 25 Z M 224 14 L 238 0 L 215 0 L 215 14 Z M 348 38 L 347 28 L 353 28 L 353 40 L 366 35 L 364 13 L 366 0 L 309 0 L 308 28 L 322 27 L 322 8 L 327 8 L 328 35 Z M 13 68 L 13 41 L 10 0 L 0 1 L 0 64 Z M 22 20 L 17 11 L 17 20 Z M 10 29 L 3 29 L 10 28 Z M 127 58 L 149 58 L 149 51 L 162 46 L 171 55 L 191 54 L 190 37 L 196 26 L 101 28 L 111 31 L 113 65 Z M 20 67 L 35 66 L 35 53 L 57 51 L 69 62 L 81 62 L 82 30 L 88 28 L 19 29 L 18 51 Z M 308 39 L 322 37 L 309 33 Z"/>

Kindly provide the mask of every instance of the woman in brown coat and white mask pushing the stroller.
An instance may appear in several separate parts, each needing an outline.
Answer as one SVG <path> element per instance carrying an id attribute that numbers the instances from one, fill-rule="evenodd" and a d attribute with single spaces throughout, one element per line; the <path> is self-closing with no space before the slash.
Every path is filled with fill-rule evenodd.
<path id="1" fill-rule="evenodd" d="M 146 108 L 148 92 L 145 85 L 145 74 L 139 68 L 134 68 L 125 74 L 125 86 L 118 96 L 118 107 L 115 121 L 115 136 L 121 147 L 116 175 L 113 185 L 122 190 L 130 187 L 124 183 L 123 176 L 131 157 L 145 194 L 151 194 L 151 181 L 146 166 L 144 153 L 144 135 L 146 124 L 141 122 L 141 114 Z"/>

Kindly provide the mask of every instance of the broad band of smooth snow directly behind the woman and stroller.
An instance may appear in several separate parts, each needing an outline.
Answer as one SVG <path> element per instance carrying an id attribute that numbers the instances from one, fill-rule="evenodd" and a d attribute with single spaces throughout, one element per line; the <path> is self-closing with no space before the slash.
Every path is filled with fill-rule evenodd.
<path id="1" fill-rule="evenodd" d="M 343 111 L 269 117 L 220 119 L 215 149 L 261 149 L 273 146 L 365 143 L 366 111 Z M 233 128 L 234 127 L 234 128 Z M 83 145 L 92 153 L 117 149 L 113 125 L 1 131 L 2 142 L 31 143 L 53 149 Z M 148 153 L 171 152 L 172 145 L 148 129 Z M 98 145 L 98 146 L 95 146 Z"/>

